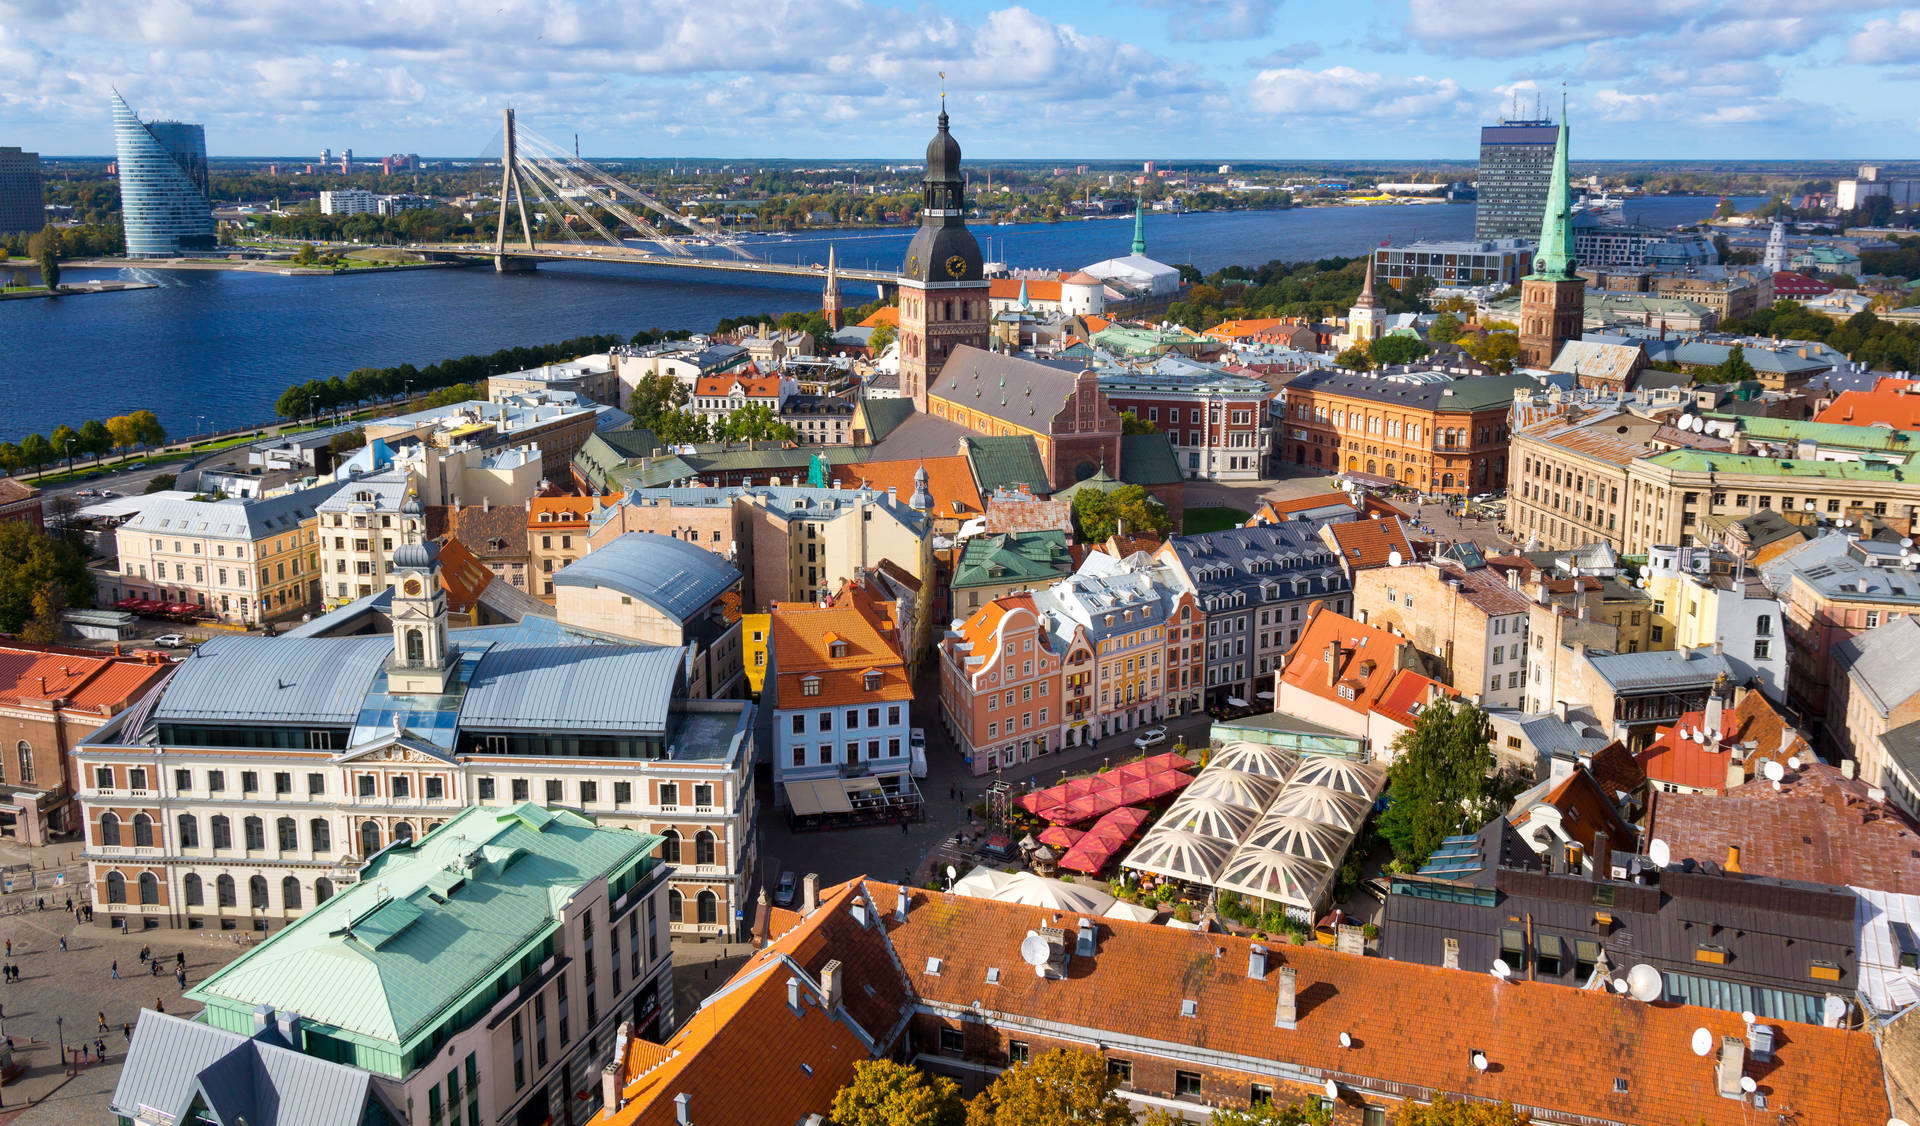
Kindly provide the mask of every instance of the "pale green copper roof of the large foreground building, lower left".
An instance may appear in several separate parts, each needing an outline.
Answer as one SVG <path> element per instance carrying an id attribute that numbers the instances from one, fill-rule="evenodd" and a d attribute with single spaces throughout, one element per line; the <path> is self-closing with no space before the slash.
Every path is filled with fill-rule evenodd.
<path id="1" fill-rule="evenodd" d="M 480 993 L 492 997 L 584 884 L 620 874 L 659 844 L 566 809 L 470 807 L 371 861 L 359 882 L 190 997 L 219 1026 L 273 1005 L 338 1040 L 403 1055 Z"/>

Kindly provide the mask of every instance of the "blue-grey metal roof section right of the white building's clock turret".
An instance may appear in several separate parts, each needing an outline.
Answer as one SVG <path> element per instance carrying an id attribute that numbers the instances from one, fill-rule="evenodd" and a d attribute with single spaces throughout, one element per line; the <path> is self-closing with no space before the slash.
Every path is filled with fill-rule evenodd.
<path id="1" fill-rule="evenodd" d="M 380 638 L 392 651 L 392 644 Z M 536 732 L 664 732 L 678 648 L 497 644 L 467 686 L 461 726 Z"/>

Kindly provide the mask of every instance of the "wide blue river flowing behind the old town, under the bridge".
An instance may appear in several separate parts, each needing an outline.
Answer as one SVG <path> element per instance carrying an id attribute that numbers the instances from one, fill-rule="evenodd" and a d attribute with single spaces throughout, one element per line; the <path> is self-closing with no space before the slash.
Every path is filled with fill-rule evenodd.
<path id="1" fill-rule="evenodd" d="M 1736 200 L 1740 208 L 1761 200 Z M 1711 196 L 1634 200 L 1626 217 L 1649 227 L 1693 223 Z M 1392 238 L 1469 238 L 1471 206 L 1300 208 L 1148 215 L 1146 252 L 1202 271 L 1354 256 Z M 897 269 L 910 231 L 766 236 L 770 261 Z M 975 231 L 989 256 L 1014 267 L 1068 269 L 1127 254 L 1131 219 L 1035 223 Z M 152 409 L 171 434 L 240 427 L 273 415 L 292 382 L 355 367 L 426 365 L 465 354 L 639 329 L 708 330 L 722 317 L 818 307 L 816 279 L 689 275 L 597 263 L 543 263 L 534 273 L 432 269 L 342 277 L 228 271 L 65 271 L 67 281 L 117 277 L 156 288 L 58 300 L 0 302 L 0 440 L 60 423 Z M 858 286 L 849 304 L 872 298 Z"/>

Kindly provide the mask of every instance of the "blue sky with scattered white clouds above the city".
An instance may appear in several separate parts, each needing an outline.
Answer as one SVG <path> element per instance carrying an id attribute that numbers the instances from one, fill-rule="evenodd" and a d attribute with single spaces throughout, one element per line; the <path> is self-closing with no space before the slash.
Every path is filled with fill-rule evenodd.
<path id="1" fill-rule="evenodd" d="M 1920 156 L 1882 0 L 0 0 L 0 144 L 108 154 L 108 94 L 209 156 L 1473 159 L 1515 96 L 1574 159 Z"/>

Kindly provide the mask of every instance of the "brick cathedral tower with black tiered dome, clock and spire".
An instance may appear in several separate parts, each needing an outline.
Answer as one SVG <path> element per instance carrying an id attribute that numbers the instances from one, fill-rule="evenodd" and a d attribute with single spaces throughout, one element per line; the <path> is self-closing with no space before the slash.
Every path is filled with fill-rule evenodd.
<path id="1" fill-rule="evenodd" d="M 960 144 L 947 133 L 945 94 L 920 184 L 920 231 L 900 269 L 900 394 L 925 411 L 947 355 L 960 344 L 989 346 L 987 277 L 979 242 L 966 229 L 966 181 Z"/>

